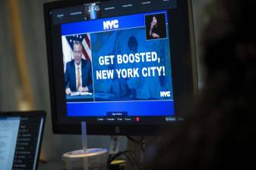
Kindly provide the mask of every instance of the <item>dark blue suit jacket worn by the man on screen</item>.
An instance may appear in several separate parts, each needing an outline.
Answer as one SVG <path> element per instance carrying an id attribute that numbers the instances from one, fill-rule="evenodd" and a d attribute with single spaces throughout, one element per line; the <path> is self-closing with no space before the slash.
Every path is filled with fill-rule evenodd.
<path id="1" fill-rule="evenodd" d="M 84 59 L 81 60 L 81 73 L 83 87 L 87 86 L 89 91 L 93 91 L 93 80 L 90 61 Z M 66 64 L 65 87 L 70 88 L 71 91 L 77 91 L 74 60 L 71 60 Z"/>

